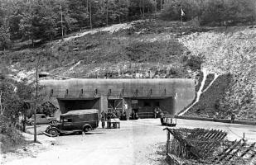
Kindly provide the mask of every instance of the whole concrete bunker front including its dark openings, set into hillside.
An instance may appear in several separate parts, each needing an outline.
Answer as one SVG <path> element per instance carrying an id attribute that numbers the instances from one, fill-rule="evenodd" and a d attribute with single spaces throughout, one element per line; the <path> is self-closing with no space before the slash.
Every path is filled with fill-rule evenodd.
<path id="1" fill-rule="evenodd" d="M 61 113 L 80 109 L 138 112 L 149 117 L 155 107 L 171 115 L 195 97 L 192 79 L 69 79 L 43 80 L 46 94 L 58 102 Z"/>

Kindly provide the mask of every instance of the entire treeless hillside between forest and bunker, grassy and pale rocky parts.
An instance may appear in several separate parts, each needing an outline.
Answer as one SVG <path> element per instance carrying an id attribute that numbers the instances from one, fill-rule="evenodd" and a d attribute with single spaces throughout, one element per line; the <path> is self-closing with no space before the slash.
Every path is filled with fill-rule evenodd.
<path id="1" fill-rule="evenodd" d="M 134 21 L 81 31 L 35 49 L 2 52 L 0 63 L 17 79 L 35 78 L 35 54 L 41 57 L 41 71 L 70 78 L 199 81 L 205 70 L 199 102 L 185 115 L 211 117 L 220 111 L 227 118 L 233 111 L 239 118 L 254 119 L 255 35 L 249 27 L 181 28 L 176 21 Z"/>

